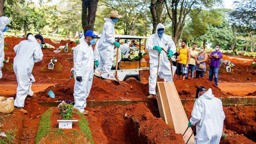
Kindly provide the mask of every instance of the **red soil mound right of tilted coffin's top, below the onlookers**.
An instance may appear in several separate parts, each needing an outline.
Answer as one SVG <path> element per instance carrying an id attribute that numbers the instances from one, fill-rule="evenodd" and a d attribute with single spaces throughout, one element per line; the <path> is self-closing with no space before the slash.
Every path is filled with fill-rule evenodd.
<path id="1" fill-rule="evenodd" d="M 196 89 L 199 86 L 212 89 L 215 97 L 227 97 L 227 94 L 221 92 L 221 90 L 215 87 L 213 82 L 207 79 L 189 79 L 189 80 L 175 80 L 176 89 L 181 99 L 194 99 L 196 95 Z"/>

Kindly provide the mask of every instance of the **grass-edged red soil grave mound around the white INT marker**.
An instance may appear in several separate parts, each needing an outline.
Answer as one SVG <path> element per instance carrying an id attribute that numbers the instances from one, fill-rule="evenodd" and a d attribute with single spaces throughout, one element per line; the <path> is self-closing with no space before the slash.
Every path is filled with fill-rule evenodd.
<path id="1" fill-rule="evenodd" d="M 58 108 L 50 108 L 42 115 L 36 144 L 94 144 L 88 122 L 81 113 L 76 110 L 73 112 L 70 119 L 76 119 L 78 122 L 73 122 L 72 129 L 59 129 L 58 119 L 62 119 Z"/>

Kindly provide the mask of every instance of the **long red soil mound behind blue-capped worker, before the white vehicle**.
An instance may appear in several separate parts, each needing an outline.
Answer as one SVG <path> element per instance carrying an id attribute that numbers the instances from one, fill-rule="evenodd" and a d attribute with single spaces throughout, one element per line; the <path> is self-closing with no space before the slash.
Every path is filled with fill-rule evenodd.
<path id="1" fill-rule="evenodd" d="M 55 99 L 45 98 L 49 97 L 47 93 L 52 90 L 56 96 Z M 41 97 L 39 100 L 43 101 L 54 101 L 54 100 L 72 100 L 74 93 L 74 79 L 65 81 L 55 86 L 50 86 L 42 92 L 39 92 L 38 96 Z M 148 85 L 141 84 L 136 80 L 130 80 L 128 82 L 122 82 L 117 84 L 116 81 L 112 80 L 111 84 L 94 77 L 92 89 L 87 100 L 118 100 L 124 99 L 146 99 L 148 96 Z"/>

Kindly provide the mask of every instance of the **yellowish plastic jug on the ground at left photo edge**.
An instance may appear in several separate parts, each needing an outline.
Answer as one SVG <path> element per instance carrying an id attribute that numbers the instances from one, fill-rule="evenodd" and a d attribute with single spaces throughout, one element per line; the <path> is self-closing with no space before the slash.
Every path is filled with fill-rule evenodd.
<path id="1" fill-rule="evenodd" d="M 14 110 L 13 97 L 0 97 L 0 113 L 11 113 Z"/>

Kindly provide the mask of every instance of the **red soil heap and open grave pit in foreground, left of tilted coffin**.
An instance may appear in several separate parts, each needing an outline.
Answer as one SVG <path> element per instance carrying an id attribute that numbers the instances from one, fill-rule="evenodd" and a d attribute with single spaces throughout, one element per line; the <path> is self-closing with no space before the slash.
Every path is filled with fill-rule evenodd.
<path id="1" fill-rule="evenodd" d="M 87 120 L 96 144 L 184 143 L 181 134 L 176 134 L 162 119 L 155 118 L 143 103 L 88 110 Z"/>

